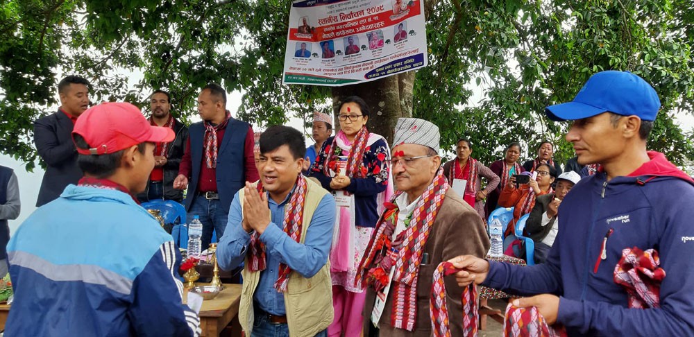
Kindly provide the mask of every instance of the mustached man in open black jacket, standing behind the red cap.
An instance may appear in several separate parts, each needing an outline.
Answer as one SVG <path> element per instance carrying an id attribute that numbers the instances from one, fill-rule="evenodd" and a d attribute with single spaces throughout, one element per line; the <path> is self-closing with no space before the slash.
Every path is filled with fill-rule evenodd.
<path id="1" fill-rule="evenodd" d="M 149 175 L 147 188 L 137 195 L 137 200 L 183 201 L 183 191 L 174 189 L 174 180 L 178 176 L 178 166 L 183 157 L 185 144 L 188 139 L 188 128 L 171 115 L 171 96 L 164 90 L 156 90 L 150 97 L 152 115 L 149 116 L 151 126 L 171 128 L 176 134 L 174 141 L 157 143 L 154 149 L 154 169 Z"/>

